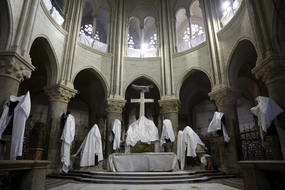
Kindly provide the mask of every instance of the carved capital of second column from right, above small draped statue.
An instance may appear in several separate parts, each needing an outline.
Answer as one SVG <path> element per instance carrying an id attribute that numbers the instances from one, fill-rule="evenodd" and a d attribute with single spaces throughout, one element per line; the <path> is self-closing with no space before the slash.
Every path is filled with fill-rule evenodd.
<path id="1" fill-rule="evenodd" d="M 221 88 L 218 91 L 210 92 L 208 94 L 211 100 L 214 100 L 216 106 L 219 107 L 220 105 L 224 104 L 237 104 L 238 97 L 241 96 L 241 91 L 232 88 Z"/>

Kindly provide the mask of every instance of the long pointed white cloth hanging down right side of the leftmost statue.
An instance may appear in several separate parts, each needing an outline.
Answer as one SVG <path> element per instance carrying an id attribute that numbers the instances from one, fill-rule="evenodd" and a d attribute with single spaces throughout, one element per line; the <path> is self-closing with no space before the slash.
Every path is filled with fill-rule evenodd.
<path id="1" fill-rule="evenodd" d="M 22 156 L 25 124 L 30 111 L 31 99 L 28 91 L 14 109 L 10 160 L 15 160 L 17 156 Z"/>

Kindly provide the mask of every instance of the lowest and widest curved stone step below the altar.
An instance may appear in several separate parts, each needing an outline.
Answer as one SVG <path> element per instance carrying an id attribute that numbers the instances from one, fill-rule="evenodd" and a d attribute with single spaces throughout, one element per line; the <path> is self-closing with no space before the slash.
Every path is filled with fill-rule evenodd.
<path id="1" fill-rule="evenodd" d="M 90 183 L 107 183 L 107 184 L 172 184 L 172 183 L 193 183 L 193 182 L 202 182 L 208 180 L 206 177 L 195 178 L 195 179 L 183 179 L 183 180 L 149 180 L 149 181 L 130 181 L 130 180 L 97 180 L 97 179 L 81 179 L 84 182 Z"/>

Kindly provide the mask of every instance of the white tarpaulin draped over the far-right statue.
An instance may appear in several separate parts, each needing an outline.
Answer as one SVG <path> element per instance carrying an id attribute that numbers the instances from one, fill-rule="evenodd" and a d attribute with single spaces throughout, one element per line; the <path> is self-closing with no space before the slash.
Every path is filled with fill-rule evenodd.
<path id="1" fill-rule="evenodd" d="M 267 134 L 267 128 L 271 125 L 271 122 L 284 110 L 271 98 L 258 96 L 255 100 L 258 102 L 258 105 L 251 108 L 250 111 L 258 117 L 258 126 L 264 131 L 260 132 L 263 140 L 263 134 Z M 285 158 L 285 132 L 277 124 L 276 129 L 280 139 L 282 155 Z"/>

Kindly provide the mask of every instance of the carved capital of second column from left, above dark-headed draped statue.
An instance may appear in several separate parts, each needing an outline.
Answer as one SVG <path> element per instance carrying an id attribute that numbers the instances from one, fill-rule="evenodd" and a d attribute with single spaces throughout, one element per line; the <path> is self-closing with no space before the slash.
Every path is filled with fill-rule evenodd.
<path id="1" fill-rule="evenodd" d="M 69 88 L 62 84 L 56 84 L 43 87 L 49 101 L 65 102 L 68 104 L 71 98 L 75 96 L 77 90 Z"/>

